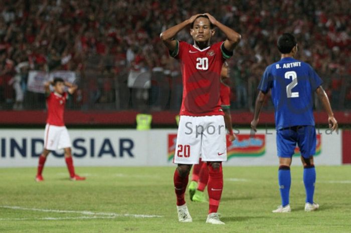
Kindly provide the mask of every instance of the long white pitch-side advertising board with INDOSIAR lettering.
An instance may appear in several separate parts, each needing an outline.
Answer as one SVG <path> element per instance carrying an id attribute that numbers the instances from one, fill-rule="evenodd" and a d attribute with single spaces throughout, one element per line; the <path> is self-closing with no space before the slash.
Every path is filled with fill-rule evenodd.
<path id="1" fill-rule="evenodd" d="M 228 147 L 229 166 L 278 165 L 275 130 L 240 131 Z M 174 166 L 176 129 L 136 131 L 124 129 L 69 129 L 77 166 Z M 317 129 L 316 165 L 341 164 L 341 130 Z M 0 131 L 0 167 L 35 167 L 44 145 L 43 129 Z M 293 165 L 301 165 L 298 149 Z M 65 166 L 63 151 L 51 153 L 46 165 Z"/>

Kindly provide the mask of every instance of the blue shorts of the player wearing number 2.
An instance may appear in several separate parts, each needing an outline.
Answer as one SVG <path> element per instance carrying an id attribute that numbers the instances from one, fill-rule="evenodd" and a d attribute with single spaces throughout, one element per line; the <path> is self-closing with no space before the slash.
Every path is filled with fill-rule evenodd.
<path id="1" fill-rule="evenodd" d="M 316 131 L 313 125 L 292 126 L 277 130 L 278 157 L 291 158 L 296 143 L 304 158 L 313 156 L 316 151 Z"/>

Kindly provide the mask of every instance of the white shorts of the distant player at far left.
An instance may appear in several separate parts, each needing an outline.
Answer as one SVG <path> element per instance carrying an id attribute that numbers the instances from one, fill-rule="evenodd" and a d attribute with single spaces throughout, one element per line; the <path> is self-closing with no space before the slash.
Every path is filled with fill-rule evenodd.
<path id="1" fill-rule="evenodd" d="M 71 147 L 71 139 L 66 126 L 46 124 L 44 135 L 44 148 L 47 150 L 58 150 Z"/>

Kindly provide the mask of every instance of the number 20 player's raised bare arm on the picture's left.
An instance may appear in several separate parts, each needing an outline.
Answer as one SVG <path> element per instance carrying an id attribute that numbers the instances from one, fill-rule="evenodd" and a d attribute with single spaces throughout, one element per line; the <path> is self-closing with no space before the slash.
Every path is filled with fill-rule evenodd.
<path id="1" fill-rule="evenodd" d="M 167 29 L 159 35 L 163 44 L 168 48 L 169 51 L 173 52 L 177 49 L 178 42 L 177 40 L 174 40 L 175 35 L 177 35 L 177 33 L 182 31 L 188 25 L 192 24 L 199 15 L 201 14 L 192 16 L 188 20 L 185 20 L 182 23 Z"/>

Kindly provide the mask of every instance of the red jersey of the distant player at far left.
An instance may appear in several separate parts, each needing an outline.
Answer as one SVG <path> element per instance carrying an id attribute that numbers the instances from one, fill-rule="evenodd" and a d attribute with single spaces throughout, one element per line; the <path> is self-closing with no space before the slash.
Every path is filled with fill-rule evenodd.
<path id="1" fill-rule="evenodd" d="M 48 106 L 48 118 L 46 123 L 56 126 L 65 126 L 63 112 L 65 110 L 67 97 L 67 92 L 63 93 L 63 95 L 56 92 L 50 93 L 46 98 L 46 104 Z"/>

